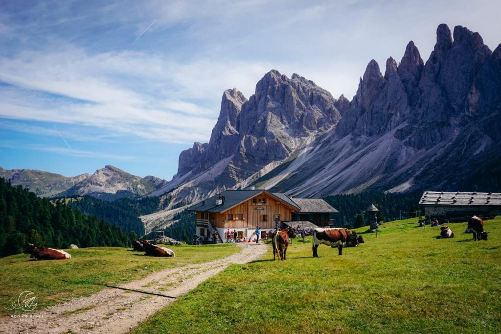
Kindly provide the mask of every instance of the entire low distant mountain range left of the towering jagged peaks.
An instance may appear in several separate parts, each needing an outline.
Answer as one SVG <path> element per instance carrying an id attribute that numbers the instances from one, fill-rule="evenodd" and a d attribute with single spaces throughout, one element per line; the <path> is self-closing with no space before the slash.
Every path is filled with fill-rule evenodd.
<path id="1" fill-rule="evenodd" d="M 89 195 L 106 201 L 140 197 L 164 187 L 167 181 L 147 176 L 144 178 L 107 165 L 93 175 L 64 177 L 59 174 L 36 170 L 12 170 L 0 168 L 0 177 L 13 186 L 21 185 L 41 197 Z"/>

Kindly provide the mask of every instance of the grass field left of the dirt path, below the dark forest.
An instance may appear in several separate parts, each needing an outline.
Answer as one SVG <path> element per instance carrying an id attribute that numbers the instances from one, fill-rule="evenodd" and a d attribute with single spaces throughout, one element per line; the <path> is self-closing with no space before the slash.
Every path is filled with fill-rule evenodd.
<path id="1" fill-rule="evenodd" d="M 27 254 L 2 258 L 0 314 L 15 312 L 5 307 L 17 301 L 23 291 L 32 291 L 37 297 L 38 309 L 43 309 L 103 288 L 95 283 L 124 283 L 154 271 L 212 261 L 240 250 L 228 244 L 167 247 L 174 250 L 175 257 L 158 258 L 126 248 L 93 247 L 68 250 L 72 256 L 69 260 L 33 261 Z"/>

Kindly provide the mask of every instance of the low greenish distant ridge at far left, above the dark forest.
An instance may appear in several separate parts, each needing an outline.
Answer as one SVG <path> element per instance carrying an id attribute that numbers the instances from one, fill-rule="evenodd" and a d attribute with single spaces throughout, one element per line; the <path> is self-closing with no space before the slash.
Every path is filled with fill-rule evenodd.
<path id="1" fill-rule="evenodd" d="M 0 178 L 4 178 L 14 186 L 21 185 L 28 188 L 40 197 L 60 194 L 89 176 L 90 174 L 82 174 L 76 177 L 65 177 L 37 170 L 5 170 L 0 167 Z"/>

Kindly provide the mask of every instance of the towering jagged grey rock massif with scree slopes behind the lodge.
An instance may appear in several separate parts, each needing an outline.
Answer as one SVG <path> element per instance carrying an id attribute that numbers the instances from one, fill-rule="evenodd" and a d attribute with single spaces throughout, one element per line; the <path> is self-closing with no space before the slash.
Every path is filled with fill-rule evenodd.
<path id="1" fill-rule="evenodd" d="M 209 142 L 152 194 L 175 205 L 249 185 L 301 197 L 501 187 L 482 181 L 501 174 L 500 113 L 501 45 L 440 25 L 426 62 L 412 41 L 384 75 L 370 61 L 351 101 L 276 70 L 248 100 L 225 91 Z"/>

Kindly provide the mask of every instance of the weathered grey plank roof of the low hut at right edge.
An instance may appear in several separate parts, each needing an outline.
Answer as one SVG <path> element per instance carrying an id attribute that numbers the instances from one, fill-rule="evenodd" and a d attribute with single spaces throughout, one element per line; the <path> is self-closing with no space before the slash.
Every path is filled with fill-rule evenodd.
<path id="1" fill-rule="evenodd" d="M 501 205 L 500 193 L 424 192 L 419 205 Z"/>

